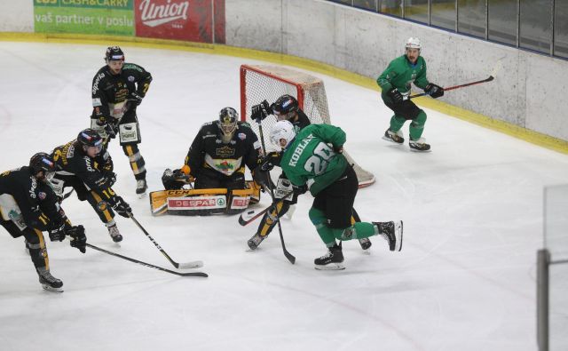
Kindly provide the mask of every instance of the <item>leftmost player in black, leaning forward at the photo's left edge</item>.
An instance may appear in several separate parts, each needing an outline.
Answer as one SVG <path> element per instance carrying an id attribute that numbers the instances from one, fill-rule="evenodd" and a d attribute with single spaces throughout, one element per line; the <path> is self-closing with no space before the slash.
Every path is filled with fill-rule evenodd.
<path id="1" fill-rule="evenodd" d="M 63 283 L 50 273 L 49 257 L 43 231 L 51 241 L 71 236 L 71 246 L 85 251 L 87 237 L 83 226 L 72 227 L 59 207 L 57 196 L 46 184 L 55 171 L 50 156 L 38 153 L 28 166 L 0 174 L 0 222 L 14 238 L 24 236 L 29 255 L 36 267 L 43 289 L 63 291 Z"/>

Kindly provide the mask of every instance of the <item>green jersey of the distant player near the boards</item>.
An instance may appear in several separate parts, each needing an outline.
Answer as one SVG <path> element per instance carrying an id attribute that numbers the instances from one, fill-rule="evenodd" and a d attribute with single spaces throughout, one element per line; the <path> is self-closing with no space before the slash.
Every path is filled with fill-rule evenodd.
<path id="1" fill-rule="evenodd" d="M 381 93 L 383 100 L 390 100 L 387 92 L 392 88 L 397 88 L 398 92 L 406 96 L 410 95 L 410 84 L 414 83 L 424 89 L 430 83 L 426 78 L 426 61 L 422 56 L 418 56 L 416 64 L 413 65 L 406 59 L 406 55 L 402 55 L 390 61 L 389 67 L 376 79 L 376 83 L 383 91 Z"/>

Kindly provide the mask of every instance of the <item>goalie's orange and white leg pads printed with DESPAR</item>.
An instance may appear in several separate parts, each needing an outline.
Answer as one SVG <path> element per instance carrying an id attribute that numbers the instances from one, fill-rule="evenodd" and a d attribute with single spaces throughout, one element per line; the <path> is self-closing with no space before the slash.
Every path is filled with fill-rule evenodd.
<path id="1" fill-rule="evenodd" d="M 260 189 L 251 180 L 246 182 L 244 189 L 175 189 L 150 193 L 150 207 L 154 216 L 165 213 L 180 216 L 237 214 L 259 200 Z"/>

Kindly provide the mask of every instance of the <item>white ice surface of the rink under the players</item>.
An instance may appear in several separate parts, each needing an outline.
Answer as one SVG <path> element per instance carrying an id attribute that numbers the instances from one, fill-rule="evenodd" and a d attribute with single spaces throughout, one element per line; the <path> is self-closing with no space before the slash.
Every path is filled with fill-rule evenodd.
<path id="1" fill-rule="evenodd" d="M 105 49 L 0 42 L 0 172 L 89 127 L 91 80 Z M 159 190 L 163 170 L 183 164 L 201 124 L 221 108 L 239 108 L 240 65 L 263 62 L 122 49 L 154 76 L 138 118 L 149 190 Z M 383 68 L 376 69 L 378 75 Z M 345 148 L 376 177 L 359 190 L 356 209 L 364 220 L 404 220 L 402 251 L 388 251 L 377 237 L 370 254 L 346 242 L 345 270 L 315 270 L 313 259 L 326 248 L 308 219 L 311 195 L 300 198 L 292 219 L 282 219 L 296 265 L 284 257 L 278 230 L 248 251 L 257 222 L 153 217 L 147 196 L 135 195 L 114 140 L 115 191 L 172 259 L 203 260 L 209 278 L 178 277 L 89 249 L 82 254 L 65 241 L 48 243 L 51 273 L 65 292 L 43 291 L 23 238 L 2 230 L 0 349 L 537 349 L 543 187 L 567 182 L 568 156 L 429 109 L 423 136 L 433 152 L 410 152 L 381 139 L 391 114 L 377 92 L 314 75 L 326 85 L 332 123 L 347 132 Z M 255 209 L 269 203 L 263 195 Z M 117 217 L 124 236 L 118 246 L 88 203 L 72 195 L 63 207 L 86 227 L 89 243 L 174 269 L 130 219 Z M 566 311 L 557 311 L 564 321 Z"/>

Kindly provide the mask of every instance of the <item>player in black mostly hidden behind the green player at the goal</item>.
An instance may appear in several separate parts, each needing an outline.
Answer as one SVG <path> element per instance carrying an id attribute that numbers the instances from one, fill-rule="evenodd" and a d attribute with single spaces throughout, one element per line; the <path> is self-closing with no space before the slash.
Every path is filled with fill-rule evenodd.
<path id="1" fill-rule="evenodd" d="M 260 104 L 253 106 L 251 110 L 250 117 L 256 122 L 264 120 L 267 116 L 274 115 L 277 121 L 286 120 L 293 124 L 296 130 L 304 129 L 304 127 L 311 124 L 310 118 L 308 118 L 302 108 L 299 107 L 296 98 L 288 94 L 280 96 L 272 105 L 269 105 L 268 101 L 264 100 Z M 280 152 L 268 153 L 260 161 L 261 169 L 263 171 L 271 171 L 274 166 L 280 166 L 280 158 Z M 288 196 L 286 196 L 284 201 L 276 204 L 276 208 L 272 207 L 271 210 L 266 211 L 266 214 L 264 214 L 263 219 L 256 229 L 255 235 L 248 239 L 247 244 L 250 250 L 256 250 L 258 245 L 272 232 L 272 229 L 277 224 L 277 213 L 278 217 L 281 218 L 290 211 L 290 206 L 297 203 L 297 191 L 293 191 L 292 184 L 286 178 L 286 174 L 281 172 L 276 183 L 276 188 L 274 189 L 274 197 L 276 200 L 280 200 L 287 194 Z M 357 211 L 353 209 L 352 222 L 355 223 L 359 221 L 359 215 Z M 359 243 L 363 250 L 369 249 L 372 244 L 368 238 L 359 239 Z"/>

